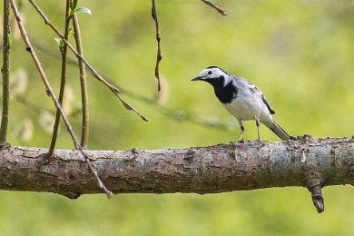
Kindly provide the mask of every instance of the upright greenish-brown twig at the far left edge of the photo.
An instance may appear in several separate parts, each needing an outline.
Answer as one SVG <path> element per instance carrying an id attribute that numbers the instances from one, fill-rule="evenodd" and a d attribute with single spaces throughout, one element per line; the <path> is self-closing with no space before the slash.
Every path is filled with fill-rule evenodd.
<path id="1" fill-rule="evenodd" d="M 1 114 L 1 129 L 0 129 L 0 144 L 5 144 L 7 141 L 7 125 L 8 125 L 8 110 L 10 100 L 10 47 L 11 29 L 10 29 L 10 5 L 7 0 L 4 0 L 4 34 L 3 34 L 3 113 Z"/>

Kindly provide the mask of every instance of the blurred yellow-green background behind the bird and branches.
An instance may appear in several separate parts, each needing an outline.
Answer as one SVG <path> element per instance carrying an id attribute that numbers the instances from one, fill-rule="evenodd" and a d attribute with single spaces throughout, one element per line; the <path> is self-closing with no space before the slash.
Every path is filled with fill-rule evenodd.
<path id="1" fill-rule="evenodd" d="M 37 1 L 63 31 L 64 1 Z M 351 0 L 215 1 L 221 16 L 198 0 L 157 1 L 162 34 L 162 92 L 156 93 L 156 56 L 151 2 L 79 1 L 93 12 L 81 14 L 88 62 L 125 90 L 152 99 L 124 99 L 149 118 L 144 123 L 125 110 L 91 74 L 90 149 L 164 149 L 235 141 L 236 121 L 208 84 L 190 83 L 209 65 L 250 79 L 266 94 L 275 120 L 291 135 L 352 136 L 354 120 L 354 3 Z M 44 70 L 58 91 L 60 55 L 54 33 L 23 1 L 25 26 Z M 9 141 L 47 147 L 54 111 L 25 45 L 13 30 L 13 99 Z M 72 39 L 73 42 L 73 39 Z M 42 50 L 40 50 L 42 48 Z M 45 49 L 44 49 L 45 48 Z M 54 54 L 55 56 L 52 56 Z M 72 54 L 71 54 L 72 55 Z M 72 55 L 73 56 L 73 55 Z M 25 79 L 27 78 L 27 79 Z M 66 105 L 80 133 L 78 72 L 69 67 Z M 25 86 L 25 81 L 27 85 Z M 32 105 L 28 104 L 31 103 Z M 32 107 L 38 105 L 38 107 Z M 172 112 L 162 113 L 168 107 Z M 44 110 L 43 110 L 43 109 Z M 48 112 L 44 112 L 48 111 Z M 164 111 L 164 110 L 163 110 Z M 180 120 L 176 119 L 180 114 Z M 51 118 L 52 117 L 52 118 Z M 184 119 L 186 118 L 186 119 Z M 225 123 L 226 130 L 196 125 Z M 245 139 L 257 137 L 245 123 Z M 58 148 L 73 148 L 61 127 Z M 261 127 L 262 139 L 278 141 Z M 323 190 L 326 210 L 318 214 L 304 188 L 221 194 L 103 194 L 68 200 L 52 193 L 0 192 L 0 232 L 7 235 L 352 235 L 351 186 Z"/>

